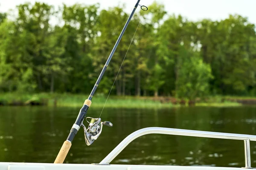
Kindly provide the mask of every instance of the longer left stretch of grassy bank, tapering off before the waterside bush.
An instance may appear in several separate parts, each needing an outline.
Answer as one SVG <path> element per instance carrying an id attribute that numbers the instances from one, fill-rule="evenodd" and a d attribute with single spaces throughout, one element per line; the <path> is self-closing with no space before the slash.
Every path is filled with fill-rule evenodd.
<path id="1" fill-rule="evenodd" d="M 89 95 L 81 94 L 0 94 L 0 105 L 48 105 L 64 107 L 81 107 Z M 106 96 L 95 95 L 93 107 L 103 107 Z M 133 96 L 110 96 L 105 107 L 107 108 L 170 108 L 172 103 L 161 103 L 146 98 Z"/>

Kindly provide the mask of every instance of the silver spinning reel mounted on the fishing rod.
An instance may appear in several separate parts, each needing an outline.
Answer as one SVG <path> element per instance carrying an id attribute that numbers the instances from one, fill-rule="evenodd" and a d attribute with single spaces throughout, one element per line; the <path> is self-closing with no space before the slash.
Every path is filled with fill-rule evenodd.
<path id="1" fill-rule="evenodd" d="M 87 119 L 90 119 L 90 122 Z M 113 124 L 111 122 L 108 122 L 108 121 L 101 122 L 100 118 L 87 117 L 85 118 L 85 120 L 86 122 L 89 123 L 88 128 L 86 128 L 83 123 L 81 124 L 81 126 L 84 128 L 84 138 L 87 146 L 89 146 L 96 139 L 98 139 L 99 135 L 102 132 L 103 125 L 113 127 Z"/>

